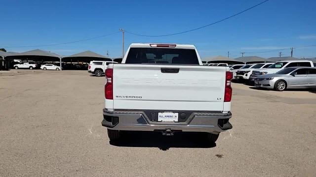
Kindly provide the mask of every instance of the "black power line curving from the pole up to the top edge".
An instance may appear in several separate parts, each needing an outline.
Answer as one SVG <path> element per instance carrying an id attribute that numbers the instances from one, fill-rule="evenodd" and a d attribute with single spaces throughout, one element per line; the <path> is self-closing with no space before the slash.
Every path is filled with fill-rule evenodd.
<path id="1" fill-rule="evenodd" d="M 194 30 L 197 30 L 197 29 L 202 29 L 202 28 L 209 27 L 209 26 L 211 26 L 211 25 L 215 25 L 215 24 L 217 24 L 217 23 L 223 22 L 223 21 L 225 21 L 225 20 L 227 20 L 227 19 L 230 19 L 230 18 L 233 18 L 233 17 L 235 17 L 235 16 L 237 16 L 237 15 L 243 13 L 243 12 L 246 12 L 246 11 L 252 9 L 252 8 L 255 8 L 255 7 L 257 7 L 257 6 L 259 6 L 259 5 L 263 4 L 263 3 L 265 3 L 265 2 L 267 2 L 267 1 L 269 1 L 269 0 L 264 0 L 264 1 L 262 1 L 262 2 L 260 2 L 260 3 L 258 3 L 258 4 L 256 4 L 256 5 L 254 5 L 254 6 L 252 6 L 252 7 L 249 7 L 249 8 L 247 8 L 247 9 L 241 11 L 241 12 L 238 12 L 238 13 L 232 15 L 232 16 L 226 17 L 226 18 L 224 18 L 224 19 L 222 19 L 222 20 L 219 20 L 219 21 L 216 21 L 216 22 L 214 22 L 214 23 L 211 23 L 211 24 L 208 24 L 208 25 L 204 25 L 204 26 L 199 27 L 199 28 L 195 28 L 195 29 L 190 29 L 190 30 L 182 31 L 182 32 L 176 32 L 176 33 L 164 34 L 164 35 L 143 35 L 143 34 L 137 34 L 137 33 L 134 33 L 134 32 L 129 32 L 129 31 L 126 31 L 126 30 L 125 30 L 125 32 L 130 33 L 130 34 L 133 34 L 133 35 L 145 36 L 145 37 L 162 37 L 162 36 L 170 36 L 170 35 L 182 34 L 182 33 L 191 32 L 191 31 L 194 31 Z"/>

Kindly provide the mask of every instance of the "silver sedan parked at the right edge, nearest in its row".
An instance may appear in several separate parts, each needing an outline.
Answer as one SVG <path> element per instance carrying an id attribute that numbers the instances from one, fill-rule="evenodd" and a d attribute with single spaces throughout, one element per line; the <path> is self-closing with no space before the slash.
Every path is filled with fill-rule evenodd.
<path id="1" fill-rule="evenodd" d="M 277 91 L 316 88 L 316 68 L 289 67 L 274 74 L 260 75 L 255 79 L 255 86 Z"/>

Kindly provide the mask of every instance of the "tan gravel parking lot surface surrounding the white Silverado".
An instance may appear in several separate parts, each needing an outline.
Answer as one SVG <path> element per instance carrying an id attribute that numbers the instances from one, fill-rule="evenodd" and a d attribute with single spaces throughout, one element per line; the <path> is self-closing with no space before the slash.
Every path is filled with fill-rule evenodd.
<path id="1" fill-rule="evenodd" d="M 233 84 L 233 129 L 136 132 L 111 145 L 101 126 L 105 78 L 86 71 L 0 74 L 0 176 L 316 176 L 316 92 Z"/>

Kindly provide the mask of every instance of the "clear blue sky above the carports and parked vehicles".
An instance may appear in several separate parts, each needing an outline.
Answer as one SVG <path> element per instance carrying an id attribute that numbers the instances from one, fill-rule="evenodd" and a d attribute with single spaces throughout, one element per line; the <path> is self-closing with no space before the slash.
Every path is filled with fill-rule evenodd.
<path id="1" fill-rule="evenodd" d="M 197 28 L 263 0 L 7 0 L 1 2 L 0 48 L 76 41 L 118 31 L 160 35 Z M 125 33 L 125 49 L 133 42 L 195 44 L 200 56 L 240 57 L 295 47 L 293 57 L 316 57 L 316 0 L 269 0 L 241 15 L 204 29 L 165 37 Z M 61 55 L 91 50 L 121 56 L 121 33 L 79 43 L 29 48 Z M 278 52 L 245 54 L 277 57 Z M 290 50 L 282 50 L 284 56 Z"/>

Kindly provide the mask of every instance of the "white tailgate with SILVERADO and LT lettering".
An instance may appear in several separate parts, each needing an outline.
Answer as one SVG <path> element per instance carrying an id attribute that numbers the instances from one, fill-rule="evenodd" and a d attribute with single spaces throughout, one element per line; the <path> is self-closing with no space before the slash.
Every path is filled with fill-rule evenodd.
<path id="1" fill-rule="evenodd" d="M 113 107 L 223 111 L 225 78 L 226 67 L 114 64 Z"/>

